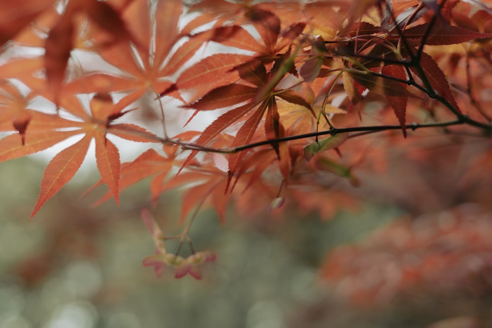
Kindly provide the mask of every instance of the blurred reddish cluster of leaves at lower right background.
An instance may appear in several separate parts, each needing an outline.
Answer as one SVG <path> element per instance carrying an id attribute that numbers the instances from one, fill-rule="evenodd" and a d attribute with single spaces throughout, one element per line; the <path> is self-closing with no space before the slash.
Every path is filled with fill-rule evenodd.
<path id="1" fill-rule="evenodd" d="M 465 204 L 400 219 L 364 242 L 331 252 L 324 280 L 357 304 L 387 303 L 426 291 L 481 297 L 492 280 L 489 212 Z"/>

